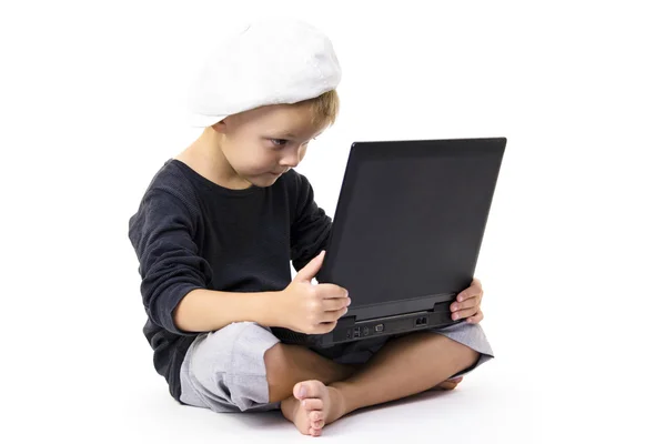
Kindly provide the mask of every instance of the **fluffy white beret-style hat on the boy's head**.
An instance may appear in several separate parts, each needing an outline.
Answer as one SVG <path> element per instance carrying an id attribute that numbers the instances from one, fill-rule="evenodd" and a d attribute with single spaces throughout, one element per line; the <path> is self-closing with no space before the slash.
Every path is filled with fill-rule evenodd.
<path id="1" fill-rule="evenodd" d="M 194 127 L 254 108 L 331 91 L 342 72 L 326 36 L 302 21 L 258 21 L 228 37 L 190 91 Z"/>

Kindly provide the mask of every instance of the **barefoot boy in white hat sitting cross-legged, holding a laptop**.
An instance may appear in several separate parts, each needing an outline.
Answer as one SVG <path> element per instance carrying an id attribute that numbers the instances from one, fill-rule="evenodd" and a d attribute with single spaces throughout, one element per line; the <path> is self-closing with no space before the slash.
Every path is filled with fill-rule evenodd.
<path id="1" fill-rule="evenodd" d="M 302 22 L 259 22 L 231 37 L 193 91 L 203 133 L 164 163 L 130 219 L 144 334 L 180 403 L 281 408 L 317 436 L 357 408 L 453 389 L 493 357 L 476 279 L 452 304 L 467 322 L 453 326 L 322 350 L 271 333 L 330 332 L 354 296 L 311 283 L 332 221 L 293 170 L 334 122 L 340 77 L 331 42 Z"/>

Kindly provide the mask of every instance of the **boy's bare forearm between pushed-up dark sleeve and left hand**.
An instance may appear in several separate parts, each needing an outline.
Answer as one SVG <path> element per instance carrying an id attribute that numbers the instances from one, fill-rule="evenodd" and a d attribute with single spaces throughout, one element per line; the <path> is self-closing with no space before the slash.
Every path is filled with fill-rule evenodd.
<path id="1" fill-rule="evenodd" d="M 175 325 L 186 332 L 211 332 L 233 322 L 278 326 L 273 309 L 281 292 L 234 293 L 196 289 L 173 312 Z"/>

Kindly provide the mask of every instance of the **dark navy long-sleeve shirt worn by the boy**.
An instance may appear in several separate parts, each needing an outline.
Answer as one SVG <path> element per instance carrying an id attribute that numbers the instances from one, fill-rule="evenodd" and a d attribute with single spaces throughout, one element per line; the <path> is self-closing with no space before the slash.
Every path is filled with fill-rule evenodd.
<path id="1" fill-rule="evenodd" d="M 198 333 L 179 330 L 173 311 L 194 289 L 284 290 L 290 261 L 301 270 L 326 248 L 331 218 L 294 170 L 268 188 L 230 190 L 170 159 L 154 175 L 129 238 L 139 259 L 143 333 L 158 373 L 180 402 L 180 367 Z"/>

